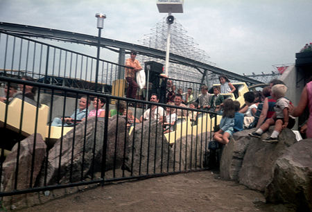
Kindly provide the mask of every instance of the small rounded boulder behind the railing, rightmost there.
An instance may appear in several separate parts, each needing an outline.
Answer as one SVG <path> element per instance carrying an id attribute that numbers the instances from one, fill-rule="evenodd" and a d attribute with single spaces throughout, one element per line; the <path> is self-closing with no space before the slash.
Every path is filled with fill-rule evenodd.
<path id="1" fill-rule="evenodd" d="M 201 145 L 198 136 L 188 135 L 177 139 L 172 146 L 175 159 L 175 170 L 188 170 L 202 166 L 202 159 L 205 156 L 205 141 Z"/>

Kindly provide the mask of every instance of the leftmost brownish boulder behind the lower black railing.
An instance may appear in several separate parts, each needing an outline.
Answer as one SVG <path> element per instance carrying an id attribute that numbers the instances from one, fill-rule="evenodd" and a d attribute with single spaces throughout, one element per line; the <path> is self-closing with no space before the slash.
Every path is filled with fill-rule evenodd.
<path id="1" fill-rule="evenodd" d="M 35 141 L 35 151 L 33 150 Z M 15 176 L 17 167 L 18 143 L 12 148 L 12 152 L 6 157 L 3 163 L 3 189 L 4 191 L 15 190 Z M 37 175 L 40 173 L 42 161 L 46 155 L 46 143 L 41 134 L 32 134 L 20 142 L 19 168 L 17 176 L 17 190 L 33 187 Z M 21 195 L 6 197 L 5 201 L 10 203 L 17 202 L 22 198 Z"/>

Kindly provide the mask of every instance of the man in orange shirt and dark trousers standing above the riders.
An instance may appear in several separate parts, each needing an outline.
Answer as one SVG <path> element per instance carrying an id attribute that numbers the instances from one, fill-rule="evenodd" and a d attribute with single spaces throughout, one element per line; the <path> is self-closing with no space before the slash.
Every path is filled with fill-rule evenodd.
<path id="1" fill-rule="evenodd" d="M 135 73 L 137 73 L 137 71 L 141 71 L 142 67 L 139 61 L 135 60 L 135 57 L 137 57 L 137 51 L 132 50 L 130 52 L 130 58 L 125 61 L 125 66 L 132 68 L 125 68 L 125 80 L 129 83 L 126 95 L 127 98 L 135 98 L 139 87 L 135 81 Z"/>

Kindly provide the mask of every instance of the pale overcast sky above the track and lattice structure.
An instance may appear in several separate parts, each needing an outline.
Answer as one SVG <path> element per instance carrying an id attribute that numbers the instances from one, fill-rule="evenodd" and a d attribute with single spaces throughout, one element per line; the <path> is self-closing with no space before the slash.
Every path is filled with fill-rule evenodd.
<path id="1" fill-rule="evenodd" d="M 184 0 L 173 14 L 209 61 L 234 73 L 266 73 L 295 62 L 312 42 L 311 0 Z M 0 0 L 0 21 L 97 35 L 139 44 L 166 15 L 156 0 Z M 187 57 L 187 55 L 185 55 Z"/>

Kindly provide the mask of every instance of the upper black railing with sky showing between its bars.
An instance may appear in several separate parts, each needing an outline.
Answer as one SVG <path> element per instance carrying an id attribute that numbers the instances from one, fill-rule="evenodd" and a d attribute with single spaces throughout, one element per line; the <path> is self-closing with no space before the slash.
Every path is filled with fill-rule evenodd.
<path id="1" fill-rule="evenodd" d="M 99 61 L 97 90 L 111 93 L 117 70 L 123 66 Z M 0 72 L 2 76 L 28 75 L 50 85 L 94 91 L 96 58 L 1 31 Z"/>

